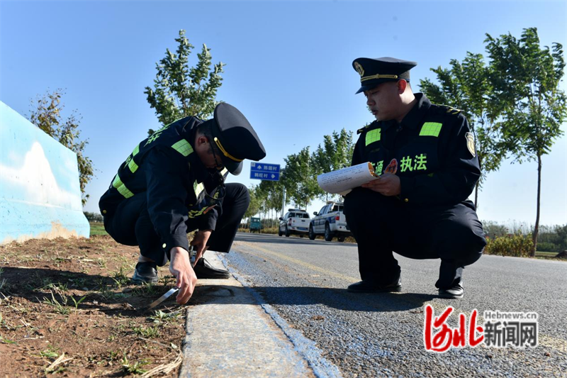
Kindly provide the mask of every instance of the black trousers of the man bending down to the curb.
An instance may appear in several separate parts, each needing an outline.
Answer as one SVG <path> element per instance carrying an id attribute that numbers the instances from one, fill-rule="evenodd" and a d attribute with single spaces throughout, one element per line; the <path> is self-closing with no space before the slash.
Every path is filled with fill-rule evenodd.
<path id="1" fill-rule="evenodd" d="M 210 250 L 230 251 L 249 204 L 250 196 L 244 185 L 226 184 L 226 195 L 222 201 L 223 211 L 207 243 Z M 185 224 L 187 232 L 198 228 L 196 218 L 189 218 Z M 162 248 L 163 242 L 152 224 L 150 213 L 147 212 L 146 193 L 135 194 L 120 202 L 112 216 L 104 217 L 104 227 L 118 243 L 139 245 L 142 256 L 154 260 L 160 266 L 167 263 Z"/>

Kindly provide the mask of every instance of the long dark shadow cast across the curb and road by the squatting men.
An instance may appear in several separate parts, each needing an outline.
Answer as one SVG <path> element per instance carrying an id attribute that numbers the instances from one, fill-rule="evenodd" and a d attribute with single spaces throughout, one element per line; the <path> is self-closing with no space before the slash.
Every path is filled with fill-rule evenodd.
<path id="1" fill-rule="evenodd" d="M 391 312 L 415 309 L 422 312 L 423 304 L 436 296 L 414 293 L 354 294 L 346 289 L 324 287 L 196 287 L 195 296 L 207 301 L 220 296 L 232 296 L 230 304 L 247 304 L 249 296 L 257 304 L 270 306 L 313 306 L 322 304 L 343 311 Z"/>

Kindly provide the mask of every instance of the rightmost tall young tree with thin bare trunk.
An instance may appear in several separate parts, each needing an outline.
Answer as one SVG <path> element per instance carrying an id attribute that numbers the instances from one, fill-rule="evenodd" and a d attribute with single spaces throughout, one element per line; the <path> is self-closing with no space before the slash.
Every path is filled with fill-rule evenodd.
<path id="1" fill-rule="evenodd" d="M 563 132 L 567 116 L 567 96 L 559 88 L 565 61 L 563 47 L 554 43 L 551 50 L 540 48 L 536 28 L 527 28 L 517 40 L 510 33 L 485 39 L 491 59 L 491 101 L 503 111 L 506 147 L 522 162 L 537 160 L 537 213 L 532 238 L 537 249 L 539 202 L 541 195 L 541 157 L 551 150 Z"/>

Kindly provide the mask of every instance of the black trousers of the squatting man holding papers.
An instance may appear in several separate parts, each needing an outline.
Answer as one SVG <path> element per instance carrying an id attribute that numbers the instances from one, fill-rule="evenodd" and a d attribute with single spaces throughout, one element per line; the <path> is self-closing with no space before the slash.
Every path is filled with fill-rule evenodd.
<path id="1" fill-rule="evenodd" d="M 344 199 L 359 249 L 363 280 L 388 284 L 400 276 L 393 251 L 412 259 L 441 259 L 442 289 L 461 281 L 466 265 L 478 260 L 486 245 L 483 227 L 471 201 L 454 206 L 408 206 L 395 197 L 357 188 Z"/>

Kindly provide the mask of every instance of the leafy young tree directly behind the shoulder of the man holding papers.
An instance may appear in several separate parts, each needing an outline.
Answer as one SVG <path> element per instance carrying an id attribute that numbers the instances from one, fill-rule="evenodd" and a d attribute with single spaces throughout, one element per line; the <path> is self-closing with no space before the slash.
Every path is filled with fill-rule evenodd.
<path id="1" fill-rule="evenodd" d="M 498 170 L 505 157 L 502 148 L 502 131 L 495 122 L 498 110 L 491 106 L 492 85 L 489 81 L 489 67 L 485 66 L 481 54 L 467 52 L 463 62 L 451 60 L 450 69 L 437 67 L 439 85 L 430 79 L 420 80 L 421 90 L 434 104 L 446 104 L 462 109 L 475 135 L 476 153 L 481 166 L 481 178 L 475 186 L 474 204 L 478 206 L 478 189 L 488 172 Z"/>

